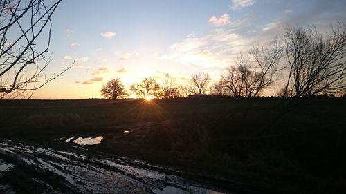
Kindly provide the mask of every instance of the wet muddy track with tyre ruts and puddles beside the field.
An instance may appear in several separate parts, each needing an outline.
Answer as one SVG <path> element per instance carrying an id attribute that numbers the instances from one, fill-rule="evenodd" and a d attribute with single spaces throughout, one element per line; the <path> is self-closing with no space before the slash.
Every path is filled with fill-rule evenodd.
<path id="1" fill-rule="evenodd" d="M 63 137 L 51 147 L 1 141 L 0 193 L 231 193 L 85 146 L 103 138 Z"/>

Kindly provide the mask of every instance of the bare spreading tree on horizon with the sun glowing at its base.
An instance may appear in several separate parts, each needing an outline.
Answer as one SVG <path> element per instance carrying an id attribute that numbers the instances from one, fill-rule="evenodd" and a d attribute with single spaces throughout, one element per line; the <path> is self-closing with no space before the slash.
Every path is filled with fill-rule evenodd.
<path id="1" fill-rule="evenodd" d="M 154 78 L 149 77 L 143 79 L 140 83 L 132 84 L 130 90 L 136 95 L 143 95 L 144 98 L 147 98 L 149 95 L 152 95 L 153 98 L 156 97 L 160 85 L 158 85 Z"/>

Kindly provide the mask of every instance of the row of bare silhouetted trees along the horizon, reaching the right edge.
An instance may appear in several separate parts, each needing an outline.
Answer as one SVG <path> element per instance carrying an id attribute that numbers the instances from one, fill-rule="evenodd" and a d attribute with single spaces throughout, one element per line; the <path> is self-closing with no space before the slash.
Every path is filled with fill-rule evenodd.
<path id="1" fill-rule="evenodd" d="M 237 57 L 235 64 L 211 85 L 206 72 L 190 75 L 183 86 L 169 73 L 163 79 L 145 78 L 127 92 L 119 78 L 102 86 L 104 97 L 116 99 L 134 93 L 138 97 L 174 98 L 187 95 L 256 97 L 280 82 L 283 97 L 346 93 L 346 23 L 338 21 L 328 32 L 314 26 L 286 28 L 269 43 L 255 44 Z M 282 77 L 282 78 L 280 78 Z"/>

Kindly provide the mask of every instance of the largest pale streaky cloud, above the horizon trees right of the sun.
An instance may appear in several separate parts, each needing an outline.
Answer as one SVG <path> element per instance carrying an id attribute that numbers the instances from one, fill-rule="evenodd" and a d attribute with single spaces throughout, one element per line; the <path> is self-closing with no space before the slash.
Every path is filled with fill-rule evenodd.
<path id="1" fill-rule="evenodd" d="M 201 37 L 190 35 L 182 42 L 172 44 L 161 59 L 192 66 L 225 67 L 241 50 L 246 51 L 250 41 L 251 38 L 231 29 L 215 29 Z"/>

